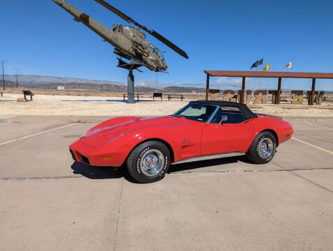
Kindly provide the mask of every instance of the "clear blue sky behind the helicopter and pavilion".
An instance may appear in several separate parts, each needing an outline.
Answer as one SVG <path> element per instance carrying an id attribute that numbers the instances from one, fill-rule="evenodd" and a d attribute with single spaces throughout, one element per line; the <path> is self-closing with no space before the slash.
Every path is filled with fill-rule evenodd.
<path id="1" fill-rule="evenodd" d="M 281 71 L 293 61 L 294 71 L 333 72 L 333 1 L 108 1 L 189 55 L 183 59 L 147 36 L 166 51 L 169 74 L 158 73 L 158 82 L 205 83 L 204 69 L 249 70 L 262 57 L 264 64 L 272 63 L 272 70 Z M 110 28 L 114 23 L 125 24 L 93 0 L 70 3 Z M 15 67 L 26 75 L 126 81 L 125 70 L 116 67 L 113 47 L 72 21 L 51 0 L 1 1 L 0 16 L 4 20 L 0 60 L 8 60 L 6 73 L 13 74 Z M 143 69 L 144 73 L 135 73 L 135 81 L 155 81 L 156 73 Z M 287 83 L 288 79 L 282 87 Z M 292 89 L 301 86 L 309 89 L 311 79 L 293 79 Z M 333 81 L 318 80 L 317 88 L 333 90 Z"/>

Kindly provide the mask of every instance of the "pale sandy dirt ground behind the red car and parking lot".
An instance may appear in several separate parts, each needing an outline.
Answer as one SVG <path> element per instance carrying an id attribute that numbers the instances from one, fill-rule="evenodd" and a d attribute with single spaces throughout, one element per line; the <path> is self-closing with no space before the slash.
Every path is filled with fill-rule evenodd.
<path id="1" fill-rule="evenodd" d="M 36 93 L 36 91 L 34 91 Z M 189 100 L 203 99 L 199 96 L 186 97 L 186 100 L 153 101 L 150 97 L 128 104 L 123 102 L 121 93 L 114 96 L 70 96 L 37 94 L 33 102 L 16 102 L 22 93 L 5 93 L 0 98 L 1 115 L 40 115 L 40 116 L 161 116 L 173 114 Z M 81 93 L 82 94 L 82 93 Z M 148 94 L 147 94 L 148 95 Z M 333 104 L 323 105 L 249 105 L 254 112 L 276 116 L 333 116 Z"/>

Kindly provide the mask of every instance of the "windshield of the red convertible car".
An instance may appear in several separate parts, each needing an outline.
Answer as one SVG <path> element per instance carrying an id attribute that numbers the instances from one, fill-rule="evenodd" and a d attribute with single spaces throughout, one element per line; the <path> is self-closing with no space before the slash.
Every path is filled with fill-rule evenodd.
<path id="1" fill-rule="evenodd" d="M 206 123 L 210 119 L 210 116 L 212 116 L 215 109 L 216 106 L 214 105 L 189 104 L 173 115 L 183 116 L 186 119 Z"/>

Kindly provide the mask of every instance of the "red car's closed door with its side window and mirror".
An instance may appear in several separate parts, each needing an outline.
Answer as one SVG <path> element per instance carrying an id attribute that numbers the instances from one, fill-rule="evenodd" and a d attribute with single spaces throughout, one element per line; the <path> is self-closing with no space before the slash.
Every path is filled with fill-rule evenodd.
<path id="1" fill-rule="evenodd" d="M 219 123 L 222 115 L 228 120 Z M 251 144 L 254 119 L 245 120 L 238 107 L 221 107 L 215 117 L 207 123 L 201 134 L 203 155 L 245 152 Z"/>

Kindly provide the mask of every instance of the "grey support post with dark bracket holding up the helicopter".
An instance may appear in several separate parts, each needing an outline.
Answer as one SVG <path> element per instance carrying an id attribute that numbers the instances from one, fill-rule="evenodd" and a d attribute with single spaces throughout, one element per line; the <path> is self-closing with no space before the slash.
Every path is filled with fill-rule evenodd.
<path id="1" fill-rule="evenodd" d="M 140 63 L 139 61 L 135 59 L 130 59 L 130 63 L 127 63 L 121 58 L 118 58 L 118 67 L 128 70 L 128 76 L 127 76 L 127 96 L 128 96 L 128 102 L 130 104 L 134 103 L 134 75 L 133 70 L 138 70 L 142 73 L 141 70 L 138 68 L 144 66 L 143 63 Z"/>

